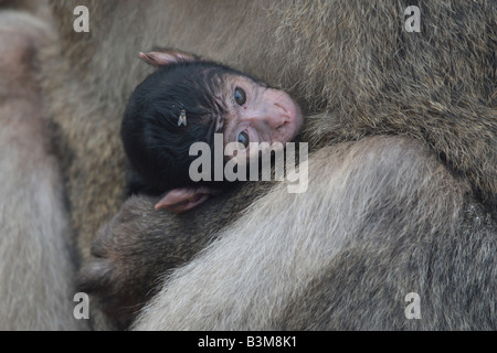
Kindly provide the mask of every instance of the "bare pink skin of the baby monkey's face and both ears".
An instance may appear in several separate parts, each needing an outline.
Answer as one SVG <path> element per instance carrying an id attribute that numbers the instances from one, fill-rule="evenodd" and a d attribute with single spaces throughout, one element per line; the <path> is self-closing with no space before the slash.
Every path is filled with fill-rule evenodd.
<path id="1" fill-rule="evenodd" d="M 181 61 L 203 60 L 176 50 L 140 53 L 139 56 L 156 67 Z M 243 76 L 233 75 L 226 82 L 228 87 L 222 99 L 223 106 L 228 108 L 229 113 L 223 121 L 218 122 L 223 125 L 224 146 L 236 142 L 242 131 L 246 131 L 251 143 L 285 143 L 297 135 L 304 119 L 300 108 L 286 92 L 261 86 Z M 246 99 L 243 105 L 239 105 L 234 98 L 237 87 L 245 92 Z M 219 126 L 219 128 L 221 127 Z M 250 146 L 245 151 L 248 159 L 255 157 L 251 156 Z M 254 150 L 255 153 L 258 153 L 257 150 Z M 156 204 L 156 210 L 166 208 L 179 214 L 198 206 L 216 194 L 219 191 L 205 186 L 173 189 Z"/>

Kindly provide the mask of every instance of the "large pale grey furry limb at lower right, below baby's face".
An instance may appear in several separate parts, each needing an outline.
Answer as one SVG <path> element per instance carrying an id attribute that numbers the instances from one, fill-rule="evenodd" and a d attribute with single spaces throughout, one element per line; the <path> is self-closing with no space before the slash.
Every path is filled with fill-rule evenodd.
<path id="1" fill-rule="evenodd" d="M 497 228 L 468 191 L 409 138 L 322 148 L 306 193 L 276 185 L 172 271 L 134 327 L 493 330 Z M 411 291 L 421 320 L 404 315 Z"/>

